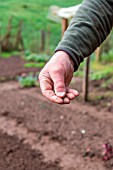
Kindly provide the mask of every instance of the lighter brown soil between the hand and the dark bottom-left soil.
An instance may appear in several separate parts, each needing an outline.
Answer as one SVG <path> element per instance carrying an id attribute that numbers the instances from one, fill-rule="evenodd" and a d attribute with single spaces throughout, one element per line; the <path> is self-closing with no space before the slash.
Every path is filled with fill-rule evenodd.
<path id="1" fill-rule="evenodd" d="M 19 89 L 13 82 L 2 83 L 0 96 L 0 129 L 38 148 L 48 163 L 57 162 L 63 170 L 113 169 L 113 158 L 107 162 L 101 158 L 102 145 L 113 145 L 112 112 L 76 100 L 67 106 L 51 104 L 37 88 Z M 84 156 L 88 148 L 91 153 Z"/>

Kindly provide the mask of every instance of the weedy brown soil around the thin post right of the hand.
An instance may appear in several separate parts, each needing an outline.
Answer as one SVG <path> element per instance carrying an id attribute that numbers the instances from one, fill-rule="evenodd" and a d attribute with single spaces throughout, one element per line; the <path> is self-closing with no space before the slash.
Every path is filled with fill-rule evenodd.
<path id="1" fill-rule="evenodd" d="M 101 110 L 102 108 L 105 111 L 113 112 L 113 81 L 112 77 L 107 79 L 101 79 L 96 81 L 89 81 L 89 103 L 92 106 L 95 106 L 97 110 Z M 108 83 L 109 82 L 109 83 Z M 82 96 L 82 78 L 73 78 L 71 83 L 71 87 L 78 90 Z M 103 87 L 103 84 L 105 87 Z M 83 97 L 78 98 L 83 105 Z"/>

